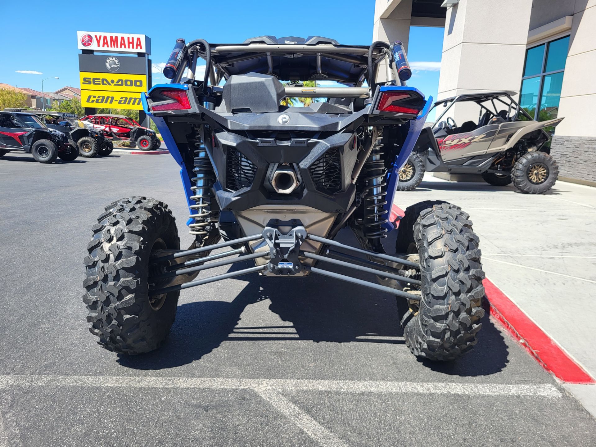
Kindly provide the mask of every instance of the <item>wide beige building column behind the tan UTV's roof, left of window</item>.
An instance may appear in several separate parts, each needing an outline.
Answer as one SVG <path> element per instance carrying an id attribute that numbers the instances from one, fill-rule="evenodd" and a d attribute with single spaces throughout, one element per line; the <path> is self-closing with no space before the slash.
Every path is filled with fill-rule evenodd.
<path id="1" fill-rule="evenodd" d="M 460 0 L 448 8 L 438 98 L 519 93 L 531 10 L 532 0 Z"/>

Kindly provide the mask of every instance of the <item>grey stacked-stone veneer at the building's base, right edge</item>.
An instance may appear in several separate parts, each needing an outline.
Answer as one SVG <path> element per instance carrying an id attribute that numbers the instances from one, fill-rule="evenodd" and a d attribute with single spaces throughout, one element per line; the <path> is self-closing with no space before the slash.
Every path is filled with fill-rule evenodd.
<path id="1" fill-rule="evenodd" d="M 551 155 L 559 165 L 559 176 L 596 182 L 596 137 L 552 137 Z"/>

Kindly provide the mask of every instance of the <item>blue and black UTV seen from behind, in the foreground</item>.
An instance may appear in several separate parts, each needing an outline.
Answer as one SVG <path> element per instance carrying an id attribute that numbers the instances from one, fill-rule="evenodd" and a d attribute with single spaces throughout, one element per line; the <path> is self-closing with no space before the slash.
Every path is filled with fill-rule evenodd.
<path id="1" fill-rule="evenodd" d="M 200 58 L 205 75 L 195 79 Z M 88 244 L 83 296 L 101 346 L 157 349 L 181 290 L 255 274 L 296 282 L 288 287 L 322 275 L 329 287 L 347 281 L 395 296 L 395 324 L 420 358 L 448 361 L 476 344 L 484 273 L 469 216 L 440 201 L 408 207 L 401 219 L 392 212 L 399 171 L 432 105 L 405 85 L 411 70 L 401 43 L 179 39 L 164 75 L 172 83 L 142 101 L 181 167 L 194 243 L 181 249 L 159 200 L 105 207 Z M 322 79 L 344 86 L 287 83 Z M 286 107 L 285 97 L 327 99 Z M 358 247 L 334 240 L 346 227 Z M 399 231 L 396 247 L 386 250 L 391 231 Z"/>

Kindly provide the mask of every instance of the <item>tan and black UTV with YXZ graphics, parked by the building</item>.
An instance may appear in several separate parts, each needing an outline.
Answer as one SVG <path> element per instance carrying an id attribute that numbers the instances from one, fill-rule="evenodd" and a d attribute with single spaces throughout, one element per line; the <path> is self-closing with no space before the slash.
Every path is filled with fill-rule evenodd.
<path id="1" fill-rule="evenodd" d="M 513 182 L 522 193 L 550 190 L 558 165 L 548 143 L 563 118 L 536 122 L 513 94 L 473 93 L 434 103 L 433 108 L 445 110 L 437 109 L 436 123 L 421 132 L 399 173 L 398 190 L 414 190 L 425 171 L 481 174 L 493 186 Z M 458 118 L 474 118 L 458 126 L 452 117 L 456 113 Z"/>

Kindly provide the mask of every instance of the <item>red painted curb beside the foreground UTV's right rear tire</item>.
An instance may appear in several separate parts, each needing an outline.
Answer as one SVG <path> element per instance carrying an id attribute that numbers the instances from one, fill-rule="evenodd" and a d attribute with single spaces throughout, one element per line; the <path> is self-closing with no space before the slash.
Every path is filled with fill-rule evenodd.
<path id="1" fill-rule="evenodd" d="M 515 337 L 542 367 L 566 383 L 596 383 L 558 344 L 495 284 L 483 281 L 491 315 Z"/>

